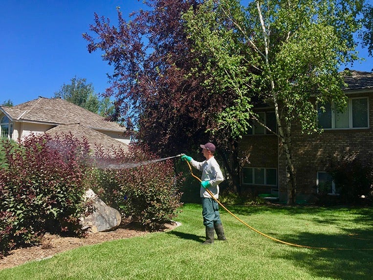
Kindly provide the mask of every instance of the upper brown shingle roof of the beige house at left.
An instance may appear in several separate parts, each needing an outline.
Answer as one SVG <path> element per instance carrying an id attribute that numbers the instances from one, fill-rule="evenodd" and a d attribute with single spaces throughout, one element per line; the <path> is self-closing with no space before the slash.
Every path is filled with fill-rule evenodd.
<path id="1" fill-rule="evenodd" d="M 39 97 L 13 107 L 2 106 L 12 120 L 49 122 L 56 124 L 80 123 L 94 129 L 125 131 L 116 122 L 106 121 L 100 115 L 92 113 L 78 105 L 63 99 Z"/>

